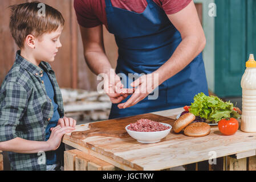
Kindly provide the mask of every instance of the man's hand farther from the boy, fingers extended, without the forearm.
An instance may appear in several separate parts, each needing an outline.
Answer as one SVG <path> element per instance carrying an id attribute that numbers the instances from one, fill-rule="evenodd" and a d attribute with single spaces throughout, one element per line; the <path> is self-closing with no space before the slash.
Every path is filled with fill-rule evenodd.
<path id="1" fill-rule="evenodd" d="M 158 76 L 155 73 L 143 75 L 132 82 L 131 86 L 136 87 L 135 93 L 132 94 L 132 97 L 127 102 L 119 104 L 119 109 L 131 107 L 152 93 L 159 86 Z"/>

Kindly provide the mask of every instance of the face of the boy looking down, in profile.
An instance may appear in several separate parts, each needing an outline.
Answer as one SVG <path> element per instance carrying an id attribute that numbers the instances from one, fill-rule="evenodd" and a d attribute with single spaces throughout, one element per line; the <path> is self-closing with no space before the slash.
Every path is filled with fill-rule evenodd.
<path id="1" fill-rule="evenodd" d="M 58 49 L 62 47 L 60 43 L 60 35 L 63 28 L 50 33 L 43 34 L 39 38 L 36 38 L 34 56 L 36 60 L 52 62 L 58 52 Z"/>

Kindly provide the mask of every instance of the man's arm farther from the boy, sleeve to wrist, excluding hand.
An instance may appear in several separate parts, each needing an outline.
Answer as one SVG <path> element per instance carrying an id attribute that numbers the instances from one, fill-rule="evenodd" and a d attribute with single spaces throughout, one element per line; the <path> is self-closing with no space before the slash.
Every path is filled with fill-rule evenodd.
<path id="1" fill-rule="evenodd" d="M 182 41 L 172 57 L 155 72 L 159 73 L 160 84 L 184 69 L 202 52 L 206 44 L 204 30 L 193 1 L 178 13 L 168 15 L 168 18 L 180 32 Z"/>

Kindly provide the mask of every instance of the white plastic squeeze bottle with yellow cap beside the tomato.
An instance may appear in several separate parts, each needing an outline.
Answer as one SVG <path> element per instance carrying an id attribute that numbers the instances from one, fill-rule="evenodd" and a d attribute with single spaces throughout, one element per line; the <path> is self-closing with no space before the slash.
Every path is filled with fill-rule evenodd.
<path id="1" fill-rule="evenodd" d="M 256 132 L 256 61 L 250 54 L 246 61 L 245 73 L 241 80 L 242 87 L 242 118 L 241 130 Z"/>

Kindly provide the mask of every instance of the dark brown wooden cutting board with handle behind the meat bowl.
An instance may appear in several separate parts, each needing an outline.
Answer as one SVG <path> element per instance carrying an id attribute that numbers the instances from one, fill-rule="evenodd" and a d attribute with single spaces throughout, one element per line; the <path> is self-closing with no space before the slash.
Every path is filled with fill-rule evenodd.
<path id="1" fill-rule="evenodd" d="M 140 114 L 132 117 L 109 119 L 105 121 L 90 123 L 90 130 L 86 131 L 74 131 L 71 133 L 71 137 L 75 139 L 85 139 L 93 136 L 106 136 L 124 138 L 128 137 L 128 133 L 125 130 L 125 126 L 137 122 L 139 119 L 151 119 L 152 121 L 168 123 L 173 125 L 174 119 L 163 117 L 156 114 Z"/>

